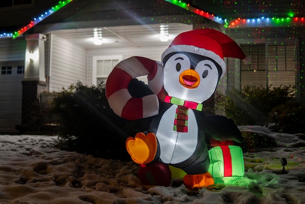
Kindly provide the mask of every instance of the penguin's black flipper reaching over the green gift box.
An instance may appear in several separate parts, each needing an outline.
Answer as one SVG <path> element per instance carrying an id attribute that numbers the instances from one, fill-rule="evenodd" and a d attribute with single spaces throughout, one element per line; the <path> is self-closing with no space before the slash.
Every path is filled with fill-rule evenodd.
<path id="1" fill-rule="evenodd" d="M 243 137 L 231 119 L 220 115 L 203 115 L 206 132 L 218 141 L 235 141 L 242 143 Z"/>

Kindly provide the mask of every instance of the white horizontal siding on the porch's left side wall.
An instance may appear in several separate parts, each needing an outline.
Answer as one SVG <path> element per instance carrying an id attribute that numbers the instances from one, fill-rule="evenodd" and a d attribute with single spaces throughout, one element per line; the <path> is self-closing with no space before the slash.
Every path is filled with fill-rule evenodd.
<path id="1" fill-rule="evenodd" d="M 87 51 L 70 41 L 51 36 L 49 90 L 60 91 L 77 81 L 86 84 Z"/>

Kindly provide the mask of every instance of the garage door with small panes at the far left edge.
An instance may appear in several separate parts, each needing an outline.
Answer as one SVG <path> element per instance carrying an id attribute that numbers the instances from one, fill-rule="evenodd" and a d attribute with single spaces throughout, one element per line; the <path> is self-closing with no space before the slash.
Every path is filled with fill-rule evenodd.
<path id="1" fill-rule="evenodd" d="M 0 133 L 16 133 L 16 124 L 21 124 L 23 64 L 0 62 Z"/>

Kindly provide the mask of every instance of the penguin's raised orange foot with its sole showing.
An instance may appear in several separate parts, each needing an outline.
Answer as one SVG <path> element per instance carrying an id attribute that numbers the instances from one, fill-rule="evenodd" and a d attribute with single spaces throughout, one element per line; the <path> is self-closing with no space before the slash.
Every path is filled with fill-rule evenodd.
<path id="1" fill-rule="evenodd" d="M 127 138 L 126 149 L 135 163 L 150 163 L 157 152 L 157 138 L 153 133 L 137 133 Z"/>

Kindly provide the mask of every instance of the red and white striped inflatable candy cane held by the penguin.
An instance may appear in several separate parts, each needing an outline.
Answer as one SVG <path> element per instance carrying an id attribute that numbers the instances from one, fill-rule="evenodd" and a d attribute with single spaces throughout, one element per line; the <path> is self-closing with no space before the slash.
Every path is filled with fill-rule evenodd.
<path id="1" fill-rule="evenodd" d="M 145 75 L 147 75 L 148 85 L 154 94 L 142 98 L 132 97 L 128 91 L 128 84 L 132 79 Z M 131 57 L 120 61 L 106 82 L 106 97 L 110 107 L 115 114 L 127 120 L 157 115 L 159 112 L 158 96 L 164 95 L 161 94 L 163 91 L 161 62 L 143 57 Z"/>

